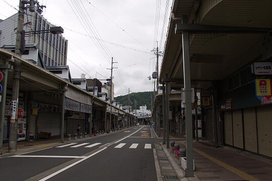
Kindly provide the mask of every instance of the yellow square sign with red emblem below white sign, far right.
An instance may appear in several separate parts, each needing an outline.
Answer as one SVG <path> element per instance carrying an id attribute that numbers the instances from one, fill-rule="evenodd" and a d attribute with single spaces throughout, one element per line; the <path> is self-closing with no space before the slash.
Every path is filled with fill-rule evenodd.
<path id="1" fill-rule="evenodd" d="M 255 79 L 256 96 L 271 96 L 270 79 Z"/>

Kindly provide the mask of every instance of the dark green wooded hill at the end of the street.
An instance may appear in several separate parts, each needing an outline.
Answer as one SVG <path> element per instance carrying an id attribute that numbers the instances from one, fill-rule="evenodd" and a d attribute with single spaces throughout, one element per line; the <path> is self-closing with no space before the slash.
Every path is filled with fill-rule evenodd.
<path id="1" fill-rule="evenodd" d="M 137 109 L 140 109 L 140 106 L 147 105 L 147 109 L 151 109 L 151 95 L 152 101 L 154 99 L 153 92 L 139 92 L 139 93 L 131 93 L 130 94 L 130 106 L 132 106 L 132 110 L 134 110 L 134 100 L 137 101 Z M 119 102 L 123 106 L 128 106 L 128 95 L 118 96 L 114 98 L 116 102 Z"/>

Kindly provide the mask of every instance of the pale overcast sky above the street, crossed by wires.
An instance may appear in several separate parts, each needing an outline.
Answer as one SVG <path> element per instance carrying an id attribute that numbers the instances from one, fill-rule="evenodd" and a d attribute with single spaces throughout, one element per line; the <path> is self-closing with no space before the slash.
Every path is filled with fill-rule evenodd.
<path id="1" fill-rule="evenodd" d="M 17 13 L 5 2 L 17 9 L 19 4 L 19 0 L 0 0 L 2 20 Z M 80 78 L 85 72 L 88 73 L 87 77 L 110 78 L 110 70 L 107 68 L 110 68 L 110 57 L 113 56 L 113 60 L 118 62 L 114 64 L 118 70 L 113 71 L 115 96 L 128 94 L 128 88 L 132 92 L 153 91 L 153 79 L 147 78 L 155 71 L 156 58 L 151 54 L 151 50 L 157 40 L 159 45 L 162 41 L 160 51 L 163 51 L 172 0 L 40 0 L 39 2 L 46 5 L 43 16 L 50 23 L 64 28 L 63 36 L 69 41 L 67 65 L 73 78 Z M 79 3 L 78 6 L 81 5 L 80 13 L 85 13 L 90 25 L 92 21 L 93 32 L 98 33 L 92 34 L 91 26 L 83 26 L 81 23 L 84 24 L 84 21 L 78 20 L 74 13 L 74 11 L 77 13 L 75 2 Z M 166 29 L 161 40 L 167 2 L 169 8 Z M 157 3 L 160 3 L 160 6 L 157 6 Z M 158 35 L 154 39 L 156 7 L 160 7 L 160 18 Z M 160 64 L 161 57 L 159 70 Z"/>

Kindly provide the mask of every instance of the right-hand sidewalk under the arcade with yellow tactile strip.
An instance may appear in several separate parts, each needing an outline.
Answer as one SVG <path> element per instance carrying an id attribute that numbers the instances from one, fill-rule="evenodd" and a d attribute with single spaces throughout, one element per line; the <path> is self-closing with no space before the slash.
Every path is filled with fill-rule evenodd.
<path id="1" fill-rule="evenodd" d="M 185 148 L 185 141 L 178 140 L 180 148 Z M 166 145 L 155 144 L 157 157 L 159 160 L 162 175 L 173 175 L 175 179 L 163 180 L 185 180 L 179 175 L 170 159 L 174 160 L 174 165 L 182 170 L 181 160 L 174 156 Z M 272 180 L 272 160 L 246 151 L 241 151 L 231 147 L 214 148 L 209 141 L 194 141 L 193 156 L 196 177 L 186 178 L 187 180 L 212 180 L 212 181 L 267 181 Z M 170 157 L 167 154 L 170 153 Z M 171 163 L 171 164 L 170 164 Z M 167 170 L 166 170 L 167 169 Z"/>

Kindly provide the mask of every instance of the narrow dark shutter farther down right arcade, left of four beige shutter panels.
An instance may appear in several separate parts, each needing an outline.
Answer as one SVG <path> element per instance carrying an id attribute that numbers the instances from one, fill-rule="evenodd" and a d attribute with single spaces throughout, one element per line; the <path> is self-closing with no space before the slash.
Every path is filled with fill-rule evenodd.
<path id="1" fill-rule="evenodd" d="M 205 110 L 205 134 L 207 140 L 214 141 L 213 109 Z"/>

